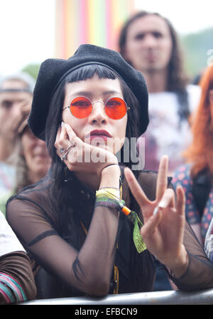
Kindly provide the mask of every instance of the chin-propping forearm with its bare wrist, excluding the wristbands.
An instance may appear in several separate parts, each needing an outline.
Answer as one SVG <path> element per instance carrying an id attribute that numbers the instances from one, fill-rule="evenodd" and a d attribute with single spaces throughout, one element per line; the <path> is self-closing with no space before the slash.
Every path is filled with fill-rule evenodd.
<path id="1" fill-rule="evenodd" d="M 119 189 L 119 177 L 120 169 L 117 165 L 107 167 L 102 171 L 100 188 Z M 77 256 L 84 278 L 89 279 L 88 293 L 104 295 L 109 291 L 118 224 L 119 211 L 116 209 L 103 206 L 97 206 L 94 209 L 87 240 Z M 91 251 L 89 254 L 88 250 Z M 80 271 L 80 268 L 78 270 Z"/>

